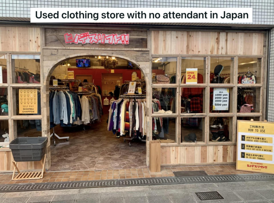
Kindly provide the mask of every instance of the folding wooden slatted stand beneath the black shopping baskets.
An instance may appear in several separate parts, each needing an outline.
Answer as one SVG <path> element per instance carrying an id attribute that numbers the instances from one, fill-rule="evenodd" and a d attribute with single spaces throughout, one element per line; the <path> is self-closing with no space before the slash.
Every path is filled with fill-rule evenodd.
<path id="1" fill-rule="evenodd" d="M 42 179 L 43 175 L 44 175 L 44 172 L 46 172 L 46 170 L 45 170 L 46 157 L 47 157 L 47 154 L 44 155 L 44 160 L 43 159 L 40 160 L 40 163 L 42 165 L 42 171 L 20 172 L 18 167 L 17 167 L 17 162 L 12 161 L 12 163 L 14 165 L 14 170 L 13 170 L 11 180 L 18 181 L 18 180 Z M 17 170 L 18 174 L 14 177 L 15 170 Z"/>

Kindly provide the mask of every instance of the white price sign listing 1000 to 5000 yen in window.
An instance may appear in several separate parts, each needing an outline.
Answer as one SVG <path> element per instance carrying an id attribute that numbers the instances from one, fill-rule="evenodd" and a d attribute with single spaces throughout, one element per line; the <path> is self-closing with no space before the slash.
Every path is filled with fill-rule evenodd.
<path id="1" fill-rule="evenodd" d="M 213 110 L 228 110 L 229 88 L 213 88 Z"/>

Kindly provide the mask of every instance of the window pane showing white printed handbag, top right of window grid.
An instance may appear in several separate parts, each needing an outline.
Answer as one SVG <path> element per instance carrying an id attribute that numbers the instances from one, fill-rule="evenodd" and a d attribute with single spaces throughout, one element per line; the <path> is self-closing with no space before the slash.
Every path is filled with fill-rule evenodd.
<path id="1" fill-rule="evenodd" d="M 261 58 L 238 58 L 237 83 L 261 83 L 261 61 Z"/>

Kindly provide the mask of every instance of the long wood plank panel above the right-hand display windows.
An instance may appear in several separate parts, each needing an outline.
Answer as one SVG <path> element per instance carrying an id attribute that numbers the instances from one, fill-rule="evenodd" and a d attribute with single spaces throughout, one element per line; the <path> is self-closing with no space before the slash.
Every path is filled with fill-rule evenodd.
<path id="1" fill-rule="evenodd" d="M 152 54 L 263 55 L 263 33 L 152 31 Z"/>

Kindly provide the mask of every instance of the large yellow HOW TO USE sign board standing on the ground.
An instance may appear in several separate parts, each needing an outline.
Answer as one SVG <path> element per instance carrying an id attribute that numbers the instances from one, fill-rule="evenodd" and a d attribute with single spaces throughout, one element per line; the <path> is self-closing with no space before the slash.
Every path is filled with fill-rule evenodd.
<path id="1" fill-rule="evenodd" d="M 237 170 L 274 174 L 273 129 L 273 122 L 237 121 Z"/>

